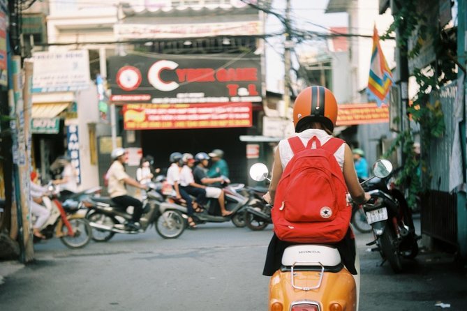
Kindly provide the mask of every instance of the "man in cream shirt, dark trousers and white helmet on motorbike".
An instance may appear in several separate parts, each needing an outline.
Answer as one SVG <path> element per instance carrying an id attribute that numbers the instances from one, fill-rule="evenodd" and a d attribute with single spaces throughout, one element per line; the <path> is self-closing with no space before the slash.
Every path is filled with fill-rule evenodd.
<path id="1" fill-rule="evenodd" d="M 146 190 L 147 185 L 138 183 L 138 181 L 126 174 L 124 167 L 125 149 L 116 148 L 110 155 L 112 157 L 112 165 L 110 165 L 107 172 L 110 199 L 125 209 L 128 206 L 133 206 L 133 217 L 126 223 L 126 227 L 128 227 L 128 229 L 138 230 L 140 229 L 139 221 L 142 215 L 142 202 L 128 195 L 126 185 L 133 185 L 133 187 L 142 190 Z"/>

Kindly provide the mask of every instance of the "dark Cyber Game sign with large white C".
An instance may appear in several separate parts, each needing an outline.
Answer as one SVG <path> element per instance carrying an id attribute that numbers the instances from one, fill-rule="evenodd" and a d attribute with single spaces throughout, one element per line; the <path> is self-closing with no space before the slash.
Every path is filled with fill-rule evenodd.
<path id="1" fill-rule="evenodd" d="M 255 103 L 260 56 L 128 55 L 109 59 L 110 100 L 117 103 Z"/>

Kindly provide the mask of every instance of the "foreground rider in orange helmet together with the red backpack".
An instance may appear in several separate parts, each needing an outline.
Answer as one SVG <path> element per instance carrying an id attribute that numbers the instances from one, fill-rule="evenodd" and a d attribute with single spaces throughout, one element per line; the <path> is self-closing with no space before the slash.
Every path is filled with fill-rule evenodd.
<path id="1" fill-rule="evenodd" d="M 273 275 L 283 251 L 297 243 L 336 245 L 348 271 L 357 274 L 346 193 L 359 204 L 370 196 L 359 184 L 350 147 L 332 137 L 336 119 L 337 103 L 329 89 L 311 86 L 297 96 L 296 136 L 282 139 L 274 155 L 269 185 L 274 236 L 263 275 Z"/>

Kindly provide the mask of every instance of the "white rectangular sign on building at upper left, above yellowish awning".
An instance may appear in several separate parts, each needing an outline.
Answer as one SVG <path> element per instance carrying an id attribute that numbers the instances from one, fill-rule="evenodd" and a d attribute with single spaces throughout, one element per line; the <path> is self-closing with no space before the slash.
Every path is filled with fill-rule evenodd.
<path id="1" fill-rule="evenodd" d="M 90 83 L 87 50 L 34 53 L 34 93 L 77 91 Z"/>

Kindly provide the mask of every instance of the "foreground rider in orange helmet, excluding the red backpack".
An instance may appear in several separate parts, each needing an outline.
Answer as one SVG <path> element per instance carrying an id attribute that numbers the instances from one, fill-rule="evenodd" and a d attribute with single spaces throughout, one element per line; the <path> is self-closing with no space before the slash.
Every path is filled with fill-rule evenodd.
<path id="1" fill-rule="evenodd" d="M 323 86 L 308 87 L 299 93 L 295 99 L 293 123 L 296 135 L 302 140 L 304 146 L 306 146 L 313 137 L 317 137 L 321 145 L 325 144 L 332 138 L 332 131 L 336 125 L 336 119 L 336 99 L 333 93 Z M 288 143 L 288 139 L 282 139 L 274 155 L 272 181 L 269 185 L 270 204 L 274 202 L 276 188 L 281 179 L 283 170 L 286 168 L 293 155 L 294 153 Z M 343 144 L 337 149 L 334 153 L 334 157 L 343 171 L 348 192 L 353 200 L 358 203 L 364 203 L 369 200 L 370 195 L 364 192 L 357 179 L 357 174 L 355 173 L 355 167 L 353 165 L 352 151 L 348 144 Z M 310 187 L 313 187 L 313 185 L 310 185 Z M 268 199 L 267 195 L 265 195 L 265 199 Z M 288 246 L 294 244 L 297 243 L 281 241 L 276 234 L 274 234 L 269 243 L 265 267 L 262 274 L 272 276 L 274 272 L 281 268 L 281 259 L 284 250 Z M 346 236 L 340 242 L 336 243 L 336 248 L 339 250 L 343 264 L 348 268 L 348 271 L 356 275 L 355 236 L 350 227 Z"/>

